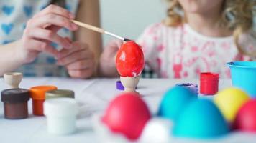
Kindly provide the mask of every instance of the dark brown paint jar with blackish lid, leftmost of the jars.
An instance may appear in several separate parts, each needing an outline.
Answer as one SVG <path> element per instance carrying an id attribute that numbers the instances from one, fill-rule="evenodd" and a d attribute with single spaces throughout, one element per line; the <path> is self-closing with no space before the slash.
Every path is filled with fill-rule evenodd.
<path id="1" fill-rule="evenodd" d="M 28 117 L 27 101 L 29 90 L 6 89 L 1 92 L 1 101 L 4 102 L 4 117 L 6 119 L 25 119 Z"/>

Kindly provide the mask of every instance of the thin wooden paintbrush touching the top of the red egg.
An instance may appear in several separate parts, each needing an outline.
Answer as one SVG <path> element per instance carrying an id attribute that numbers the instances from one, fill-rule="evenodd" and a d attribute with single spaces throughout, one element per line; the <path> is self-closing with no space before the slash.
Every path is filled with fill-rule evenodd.
<path id="1" fill-rule="evenodd" d="M 99 32 L 99 33 L 101 33 L 101 34 L 108 34 L 108 35 L 114 36 L 115 38 L 120 39 L 120 40 L 122 40 L 122 41 L 131 41 L 131 40 L 129 40 L 129 39 L 127 39 L 127 38 L 124 38 L 124 37 L 122 37 L 122 36 L 118 36 L 118 35 L 116 35 L 116 34 L 113 34 L 113 33 L 109 32 L 109 31 L 105 31 L 104 29 L 101 29 L 101 28 L 99 28 L 99 27 L 92 26 L 92 25 L 90 25 L 90 24 L 85 24 L 85 23 L 83 23 L 83 22 L 76 21 L 76 20 L 71 20 L 71 21 L 73 21 L 73 23 L 77 24 L 78 26 L 82 26 L 83 28 L 91 29 L 91 30 L 97 31 L 97 32 Z"/>

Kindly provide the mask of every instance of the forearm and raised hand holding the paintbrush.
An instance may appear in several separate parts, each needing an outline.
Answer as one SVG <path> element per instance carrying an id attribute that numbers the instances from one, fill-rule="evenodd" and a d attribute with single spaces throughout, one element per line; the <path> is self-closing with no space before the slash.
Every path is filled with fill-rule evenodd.
<path id="1" fill-rule="evenodd" d="M 22 64 L 35 60 L 41 51 L 53 56 L 58 51 L 51 46 L 51 42 L 60 44 L 69 49 L 70 42 L 57 34 L 58 29 L 65 27 L 71 31 L 76 30 L 76 24 L 70 22 L 74 16 L 69 11 L 50 5 L 40 11 L 27 22 L 22 39 L 11 44 L 0 46 L 0 76 L 7 71 L 13 71 Z"/>

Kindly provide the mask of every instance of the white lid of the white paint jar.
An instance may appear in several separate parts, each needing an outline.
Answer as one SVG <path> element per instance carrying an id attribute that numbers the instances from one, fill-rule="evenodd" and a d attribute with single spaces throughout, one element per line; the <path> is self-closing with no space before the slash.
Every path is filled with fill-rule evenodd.
<path id="1" fill-rule="evenodd" d="M 78 104 L 72 98 L 47 99 L 43 107 L 45 116 L 63 117 L 78 114 Z"/>

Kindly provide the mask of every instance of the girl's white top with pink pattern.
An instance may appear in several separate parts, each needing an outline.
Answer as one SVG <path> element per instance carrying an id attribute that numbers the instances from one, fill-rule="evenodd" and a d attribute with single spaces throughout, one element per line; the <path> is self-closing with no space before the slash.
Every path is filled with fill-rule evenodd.
<path id="1" fill-rule="evenodd" d="M 248 60 L 239 54 L 232 36 L 204 36 L 188 24 L 175 28 L 153 24 L 137 42 L 142 46 L 146 64 L 163 78 L 196 78 L 200 72 L 208 71 L 228 78 L 227 62 Z"/>

